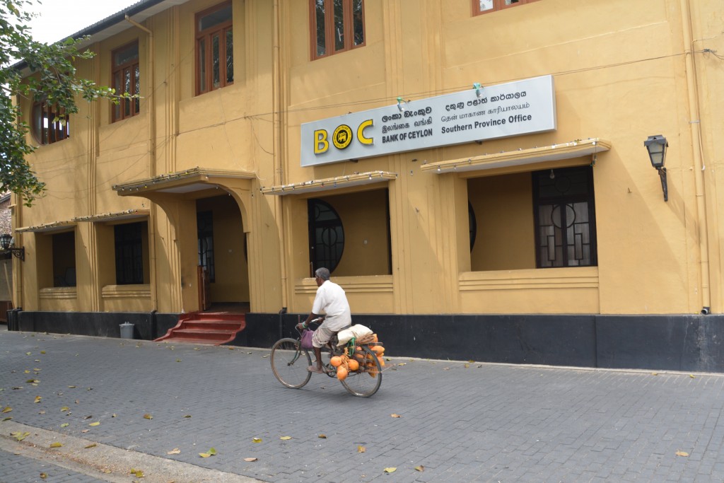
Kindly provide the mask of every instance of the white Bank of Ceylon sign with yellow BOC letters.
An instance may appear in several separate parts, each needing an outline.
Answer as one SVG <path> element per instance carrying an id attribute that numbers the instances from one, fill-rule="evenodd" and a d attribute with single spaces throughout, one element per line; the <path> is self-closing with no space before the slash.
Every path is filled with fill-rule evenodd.
<path id="1" fill-rule="evenodd" d="M 301 164 L 313 166 L 555 128 L 553 77 L 546 75 L 307 122 L 302 125 Z"/>

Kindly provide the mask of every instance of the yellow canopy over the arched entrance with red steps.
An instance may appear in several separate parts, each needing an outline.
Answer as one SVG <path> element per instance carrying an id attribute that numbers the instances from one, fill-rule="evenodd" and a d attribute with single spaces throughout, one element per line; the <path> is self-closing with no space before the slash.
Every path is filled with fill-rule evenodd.
<path id="1" fill-rule="evenodd" d="M 248 171 L 233 171 L 226 169 L 209 169 L 195 167 L 147 178 L 127 182 L 123 185 L 114 185 L 113 189 L 120 196 L 143 196 L 143 193 L 193 193 L 194 191 L 209 190 L 216 188 L 218 184 L 214 178 L 229 180 L 230 178 L 240 180 L 253 180 L 256 173 Z"/>

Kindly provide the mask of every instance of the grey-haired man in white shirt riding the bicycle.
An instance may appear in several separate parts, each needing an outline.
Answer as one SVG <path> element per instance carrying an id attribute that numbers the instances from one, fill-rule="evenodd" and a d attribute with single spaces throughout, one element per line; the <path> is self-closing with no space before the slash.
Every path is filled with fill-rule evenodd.
<path id="1" fill-rule="evenodd" d="M 316 374 L 324 374 L 324 369 L 322 369 L 321 365 L 321 348 L 324 347 L 337 332 L 352 324 L 352 314 L 345 290 L 342 290 L 342 287 L 329 280 L 329 270 L 319 268 L 316 269 L 314 275 L 317 291 L 314 297 L 314 303 L 312 304 L 312 312 L 304 322 L 297 325 L 297 328 L 300 330 L 306 329 L 312 319 L 324 316 L 324 322 L 321 323 L 312 335 L 316 366 L 309 366 L 307 369 Z"/>

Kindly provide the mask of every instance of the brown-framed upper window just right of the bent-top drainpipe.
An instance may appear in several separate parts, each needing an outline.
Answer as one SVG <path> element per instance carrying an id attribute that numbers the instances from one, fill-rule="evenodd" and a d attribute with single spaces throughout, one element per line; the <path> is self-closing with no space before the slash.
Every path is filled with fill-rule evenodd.
<path id="1" fill-rule="evenodd" d="M 196 95 L 234 83 L 230 1 L 196 14 Z"/>

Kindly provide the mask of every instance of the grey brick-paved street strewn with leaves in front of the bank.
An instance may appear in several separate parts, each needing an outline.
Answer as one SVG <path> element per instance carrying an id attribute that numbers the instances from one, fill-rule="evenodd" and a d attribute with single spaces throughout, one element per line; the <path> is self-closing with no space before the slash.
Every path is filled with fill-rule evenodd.
<path id="1" fill-rule="evenodd" d="M 8 479 L 0 464 L 0 482 L 96 481 L 42 469 L 22 453 L 33 439 L 59 461 L 111 471 L 100 481 L 139 480 L 113 450 L 136 458 L 144 483 L 724 481 L 721 374 L 392 358 L 365 399 L 323 375 L 282 387 L 268 354 L 0 330 L 0 411 L 12 408 L 0 413 L 12 417 L 0 422 L 0 460 L 28 468 Z M 17 442 L 18 427 L 50 433 Z M 63 446 L 43 448 L 53 439 Z"/>

